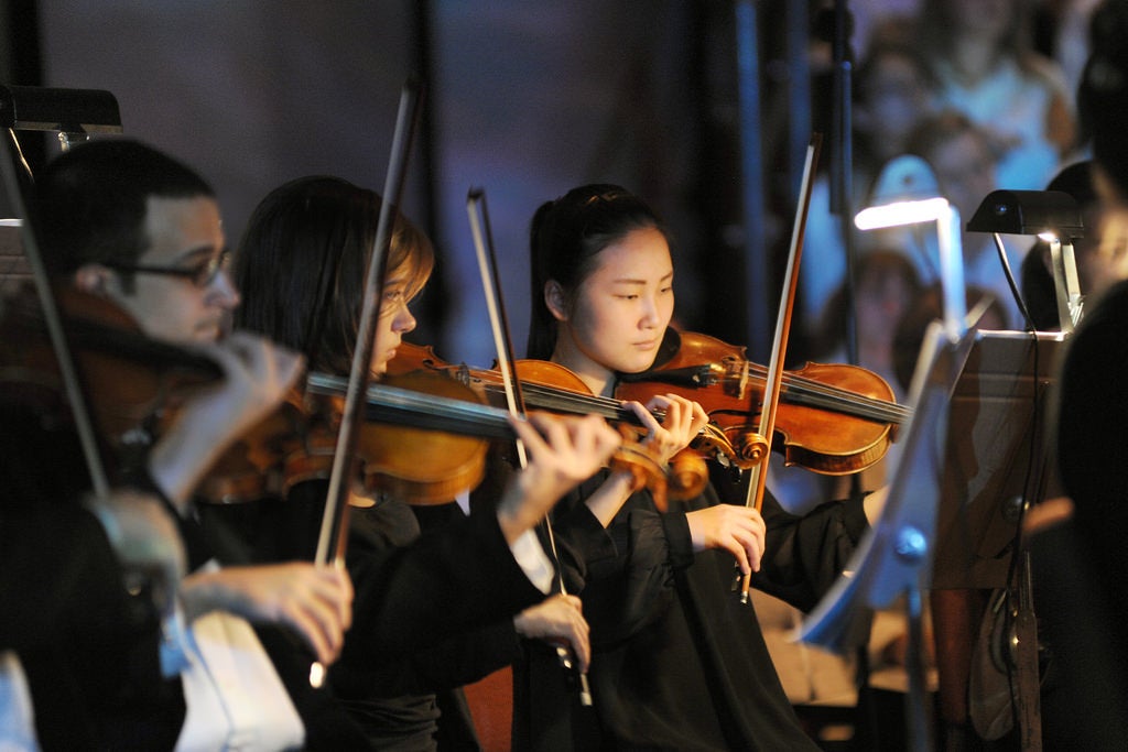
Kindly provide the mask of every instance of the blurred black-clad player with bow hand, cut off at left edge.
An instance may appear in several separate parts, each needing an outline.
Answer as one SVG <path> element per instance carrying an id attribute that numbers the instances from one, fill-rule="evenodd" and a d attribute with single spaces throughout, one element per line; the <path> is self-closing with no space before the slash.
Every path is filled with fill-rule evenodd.
<path id="1" fill-rule="evenodd" d="M 160 671 L 159 609 L 148 591 L 126 590 L 124 565 L 175 583 L 176 528 L 135 492 L 83 505 L 92 499 L 73 433 L 0 402 L 0 653 L 14 652 L 26 676 L 27 731 L 43 750 L 171 749 L 184 701 Z"/>

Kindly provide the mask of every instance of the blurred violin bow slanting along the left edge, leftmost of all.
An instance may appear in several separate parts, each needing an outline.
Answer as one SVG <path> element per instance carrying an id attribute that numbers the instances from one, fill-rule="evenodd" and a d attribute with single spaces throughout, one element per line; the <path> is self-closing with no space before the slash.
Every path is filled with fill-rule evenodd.
<path id="1" fill-rule="evenodd" d="M 11 139 L 12 148 L 19 153 L 19 143 L 16 141 L 15 130 L 9 127 L 8 134 Z M 23 161 L 23 157 L 20 157 L 20 160 Z M 47 327 L 47 336 L 54 351 L 56 364 L 59 365 L 59 373 L 63 381 L 67 399 L 70 400 L 74 431 L 78 434 L 79 445 L 82 449 L 82 458 L 86 462 L 87 472 L 90 475 L 90 489 L 94 492 L 96 498 L 106 501 L 109 498 L 109 479 L 98 449 L 98 440 L 94 431 L 94 419 L 90 417 L 86 393 L 78 378 L 74 354 L 71 352 L 70 343 L 63 330 L 62 316 L 59 312 L 59 303 L 51 289 L 47 268 L 43 263 L 43 254 L 39 251 L 39 244 L 32 228 L 32 218 L 24 201 L 24 187 L 20 185 L 16 166 L 9 154 L 0 158 L 0 172 L 3 174 L 5 189 L 11 202 L 12 211 L 18 216 L 24 218 L 19 227 L 24 256 L 32 272 L 35 291 L 39 299 L 39 306 L 43 309 L 43 319 Z M 175 592 L 177 584 L 164 583 L 169 589 L 170 594 Z M 184 623 L 184 613 L 176 598 L 169 598 L 168 603 L 162 609 L 160 629 L 160 671 L 164 676 L 171 678 L 187 666 L 187 628 Z"/>

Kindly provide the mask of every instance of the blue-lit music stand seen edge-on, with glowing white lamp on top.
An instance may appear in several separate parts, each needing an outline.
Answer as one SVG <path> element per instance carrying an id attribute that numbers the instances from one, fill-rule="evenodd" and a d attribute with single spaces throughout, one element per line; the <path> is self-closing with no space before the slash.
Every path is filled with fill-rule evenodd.
<path id="1" fill-rule="evenodd" d="M 899 169 L 897 165 L 887 170 Z M 932 737 L 925 698 L 922 593 L 932 577 L 948 401 L 972 342 L 964 320 L 960 214 L 943 197 L 911 195 L 864 209 L 854 223 L 860 230 L 935 223 L 943 318 L 929 325 L 917 355 L 908 398 L 914 415 L 904 432 L 905 450 L 892 471 L 881 519 L 858 541 L 847 572 L 804 620 L 797 638 L 843 653 L 867 629 L 871 609 L 885 608 L 904 595 L 909 627 L 909 744 L 928 750 Z"/>

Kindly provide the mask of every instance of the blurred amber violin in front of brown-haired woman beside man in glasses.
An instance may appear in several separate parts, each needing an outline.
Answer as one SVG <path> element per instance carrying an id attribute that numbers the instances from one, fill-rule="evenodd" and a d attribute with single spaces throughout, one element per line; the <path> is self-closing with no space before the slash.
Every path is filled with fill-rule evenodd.
<path id="1" fill-rule="evenodd" d="M 341 400 L 347 379 L 307 377 L 293 393 L 220 459 L 197 495 L 233 503 L 285 497 L 305 480 L 327 477 L 336 448 Z M 491 441 L 517 437 L 504 410 L 486 405 L 470 387 L 438 371 L 399 372 L 369 386 L 359 428 L 359 483 L 368 494 L 388 494 L 414 505 L 444 504 L 485 477 Z M 611 457 L 664 504 L 670 483 L 661 462 L 629 441 Z M 677 484 L 672 493 L 681 493 Z M 698 489 L 699 493 L 699 489 Z"/>

